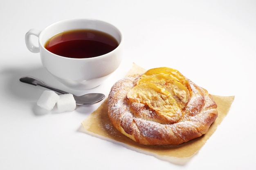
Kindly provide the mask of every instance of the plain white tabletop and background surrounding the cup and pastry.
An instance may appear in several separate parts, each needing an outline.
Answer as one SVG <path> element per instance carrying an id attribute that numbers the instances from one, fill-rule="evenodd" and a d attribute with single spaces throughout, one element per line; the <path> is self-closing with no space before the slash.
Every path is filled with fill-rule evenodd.
<path id="1" fill-rule="evenodd" d="M 256 1 L 44 0 L 0 5 L 0 169 L 256 169 Z M 202 149 L 184 166 L 161 161 L 81 132 L 81 122 L 99 104 L 73 112 L 41 110 L 43 88 L 19 82 L 36 76 L 63 90 L 43 69 L 25 34 L 59 20 L 95 18 L 124 35 L 124 60 L 101 86 L 122 78 L 130 63 L 146 69 L 173 67 L 211 94 L 235 101 Z"/>

